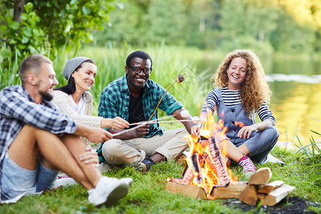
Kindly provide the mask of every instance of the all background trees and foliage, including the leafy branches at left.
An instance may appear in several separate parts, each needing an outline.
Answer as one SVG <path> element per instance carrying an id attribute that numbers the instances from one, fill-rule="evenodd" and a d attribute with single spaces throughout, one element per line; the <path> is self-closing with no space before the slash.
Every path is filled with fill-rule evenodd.
<path id="1" fill-rule="evenodd" d="M 1 73 L 16 72 L 14 63 L 30 54 L 54 60 L 61 48 L 76 54 L 91 41 L 94 46 L 165 44 L 224 52 L 253 49 L 260 56 L 312 55 L 321 50 L 321 1 L 0 2 Z"/>

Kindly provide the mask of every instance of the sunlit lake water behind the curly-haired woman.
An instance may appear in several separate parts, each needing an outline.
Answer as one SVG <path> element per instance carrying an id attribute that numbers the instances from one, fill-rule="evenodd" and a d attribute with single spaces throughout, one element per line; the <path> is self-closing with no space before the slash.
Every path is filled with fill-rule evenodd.
<path id="1" fill-rule="evenodd" d="M 220 61 L 198 61 L 198 71 L 213 73 Z M 309 138 L 321 133 L 321 59 L 262 59 L 272 98 L 270 109 L 280 131 L 279 145 L 310 144 Z"/>

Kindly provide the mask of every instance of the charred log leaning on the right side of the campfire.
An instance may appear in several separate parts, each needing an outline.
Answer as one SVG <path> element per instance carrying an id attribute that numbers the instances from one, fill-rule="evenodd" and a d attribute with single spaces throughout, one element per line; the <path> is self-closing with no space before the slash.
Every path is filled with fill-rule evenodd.
<path id="1" fill-rule="evenodd" d="M 228 177 L 228 170 L 226 170 L 222 152 L 220 151 L 220 146 L 218 145 L 218 140 L 215 138 L 215 136 L 211 136 L 208 140 L 210 156 L 213 159 L 216 172 L 218 173 L 219 184 L 228 186 L 230 184 L 230 178 Z"/>

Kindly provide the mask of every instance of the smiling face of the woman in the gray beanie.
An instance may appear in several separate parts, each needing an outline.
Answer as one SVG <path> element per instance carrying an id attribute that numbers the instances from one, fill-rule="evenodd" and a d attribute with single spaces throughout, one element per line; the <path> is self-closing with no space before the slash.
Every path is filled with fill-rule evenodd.
<path id="1" fill-rule="evenodd" d="M 90 62 L 82 63 L 81 68 L 71 74 L 75 80 L 76 91 L 89 91 L 93 83 L 95 83 L 96 74 L 97 66 L 95 64 Z"/>

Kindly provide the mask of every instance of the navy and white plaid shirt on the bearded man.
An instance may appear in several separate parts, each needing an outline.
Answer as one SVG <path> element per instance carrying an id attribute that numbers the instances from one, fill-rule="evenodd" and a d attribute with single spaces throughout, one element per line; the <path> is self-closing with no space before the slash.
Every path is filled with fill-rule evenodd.
<path id="1" fill-rule="evenodd" d="M 25 124 L 54 134 L 74 133 L 77 129 L 76 123 L 61 114 L 54 103 L 34 103 L 24 86 L 4 88 L 0 92 L 0 178 L 4 156 Z"/>

